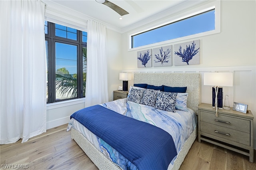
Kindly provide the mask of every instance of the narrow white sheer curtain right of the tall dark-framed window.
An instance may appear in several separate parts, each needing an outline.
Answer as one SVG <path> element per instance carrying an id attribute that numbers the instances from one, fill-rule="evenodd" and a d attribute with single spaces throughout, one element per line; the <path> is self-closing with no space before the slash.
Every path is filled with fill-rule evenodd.
<path id="1" fill-rule="evenodd" d="M 106 26 L 88 20 L 87 35 L 86 107 L 108 102 Z"/>

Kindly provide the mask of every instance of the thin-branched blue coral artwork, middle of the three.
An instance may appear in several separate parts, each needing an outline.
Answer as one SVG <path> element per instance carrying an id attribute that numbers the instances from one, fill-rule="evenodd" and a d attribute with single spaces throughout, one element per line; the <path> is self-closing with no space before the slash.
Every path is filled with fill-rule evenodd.
<path id="1" fill-rule="evenodd" d="M 172 45 L 153 49 L 153 66 L 172 66 Z"/>

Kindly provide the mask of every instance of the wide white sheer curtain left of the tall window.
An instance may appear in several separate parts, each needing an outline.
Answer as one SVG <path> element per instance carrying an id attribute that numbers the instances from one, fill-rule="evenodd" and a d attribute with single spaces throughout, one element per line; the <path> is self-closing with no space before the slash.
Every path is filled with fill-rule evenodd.
<path id="1" fill-rule="evenodd" d="M 46 132 L 44 4 L 0 1 L 0 144 Z"/>

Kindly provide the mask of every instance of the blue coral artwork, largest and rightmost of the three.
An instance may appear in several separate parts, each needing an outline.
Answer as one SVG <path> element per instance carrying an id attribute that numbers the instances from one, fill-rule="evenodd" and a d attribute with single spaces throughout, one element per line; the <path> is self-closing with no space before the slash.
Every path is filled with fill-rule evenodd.
<path id="1" fill-rule="evenodd" d="M 200 40 L 174 45 L 174 65 L 200 64 Z"/>

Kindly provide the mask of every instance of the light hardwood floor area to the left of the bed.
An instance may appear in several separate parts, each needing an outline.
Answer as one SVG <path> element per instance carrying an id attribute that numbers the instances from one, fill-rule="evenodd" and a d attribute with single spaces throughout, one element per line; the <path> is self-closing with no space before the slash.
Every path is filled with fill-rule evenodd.
<path id="1" fill-rule="evenodd" d="M 62 125 L 49 129 L 23 144 L 19 140 L 1 145 L 1 169 L 2 165 L 27 165 L 29 170 L 98 170 L 66 128 Z"/>

